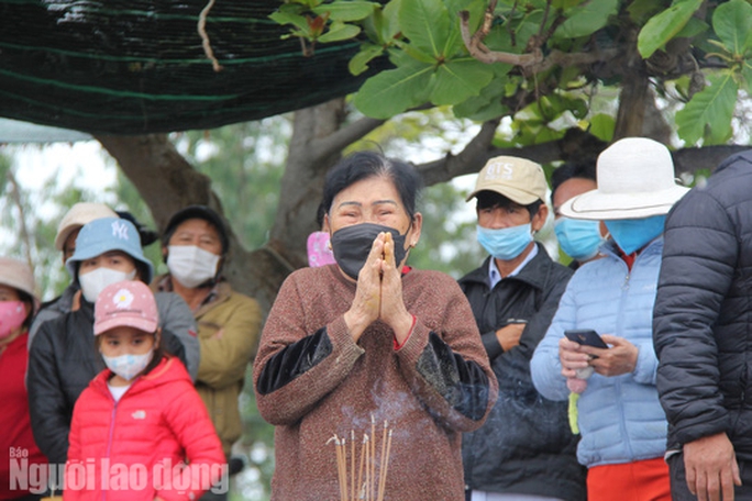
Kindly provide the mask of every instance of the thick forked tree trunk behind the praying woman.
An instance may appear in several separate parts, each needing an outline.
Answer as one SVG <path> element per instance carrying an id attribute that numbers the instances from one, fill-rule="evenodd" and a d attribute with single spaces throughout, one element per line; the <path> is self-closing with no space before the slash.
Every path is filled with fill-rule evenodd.
<path id="1" fill-rule="evenodd" d="M 295 130 L 281 179 L 279 207 L 263 247 L 242 247 L 232 229 L 224 276 L 232 287 L 272 308 L 285 278 L 306 266 L 306 241 L 318 229 L 316 213 L 324 177 L 342 149 L 384 121 L 364 119 L 342 127 L 344 100 L 296 112 Z M 224 216 L 211 179 L 198 172 L 164 134 L 98 136 L 148 205 L 159 232 L 170 215 L 191 203 L 209 205 Z M 248 214 L 253 218 L 253 214 Z M 226 222 L 226 219 L 225 219 Z"/>

